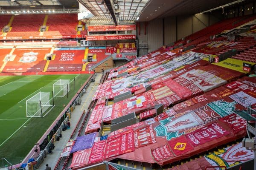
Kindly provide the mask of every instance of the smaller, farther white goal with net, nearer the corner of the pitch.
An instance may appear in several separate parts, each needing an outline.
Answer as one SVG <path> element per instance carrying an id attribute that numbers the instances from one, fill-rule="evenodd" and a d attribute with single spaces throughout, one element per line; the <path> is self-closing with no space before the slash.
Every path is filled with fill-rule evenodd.
<path id="1" fill-rule="evenodd" d="M 70 80 L 69 79 L 59 79 L 53 85 L 53 96 L 64 97 L 67 92 L 70 91 Z"/>

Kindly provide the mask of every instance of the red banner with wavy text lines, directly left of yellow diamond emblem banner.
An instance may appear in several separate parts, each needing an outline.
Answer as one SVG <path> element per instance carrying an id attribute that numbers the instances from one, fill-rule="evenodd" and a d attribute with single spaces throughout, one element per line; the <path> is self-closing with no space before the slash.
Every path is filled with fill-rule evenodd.
<path id="1" fill-rule="evenodd" d="M 155 149 L 151 149 L 150 153 L 156 162 L 162 161 L 164 159 L 170 159 L 175 156 L 170 150 L 168 144 L 157 147 Z"/>

